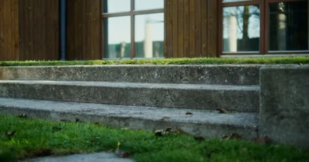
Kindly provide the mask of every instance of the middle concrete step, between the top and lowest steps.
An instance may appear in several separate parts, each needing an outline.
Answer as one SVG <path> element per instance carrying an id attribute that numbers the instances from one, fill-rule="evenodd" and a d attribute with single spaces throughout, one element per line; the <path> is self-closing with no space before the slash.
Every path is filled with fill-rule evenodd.
<path id="1" fill-rule="evenodd" d="M 0 80 L 0 97 L 259 112 L 259 86 Z"/>

